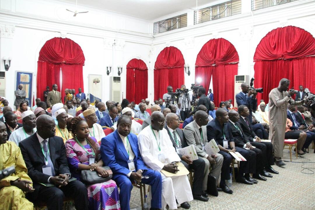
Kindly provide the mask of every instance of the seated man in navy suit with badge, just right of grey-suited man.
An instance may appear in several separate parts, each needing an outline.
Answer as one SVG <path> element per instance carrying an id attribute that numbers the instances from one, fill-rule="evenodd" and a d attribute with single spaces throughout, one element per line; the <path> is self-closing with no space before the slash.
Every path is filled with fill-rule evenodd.
<path id="1" fill-rule="evenodd" d="M 233 158 L 230 152 L 239 152 L 246 160 L 249 160 L 249 152 L 242 147 L 235 146 L 231 127 L 227 122 L 229 122 L 228 112 L 224 108 L 219 108 L 215 112 L 215 119 L 207 125 L 208 142 L 211 141 L 211 139 L 215 139 L 220 149 L 218 153 L 224 157 L 220 181 L 220 187 L 223 191 L 225 191 L 224 189 L 227 187 L 225 180 L 230 179 L 230 164 Z M 249 161 L 240 161 L 236 181 L 244 184 L 254 184 L 257 182 L 249 176 Z M 233 193 L 230 189 L 226 190 L 226 192 L 230 194 Z"/>

